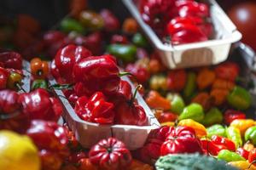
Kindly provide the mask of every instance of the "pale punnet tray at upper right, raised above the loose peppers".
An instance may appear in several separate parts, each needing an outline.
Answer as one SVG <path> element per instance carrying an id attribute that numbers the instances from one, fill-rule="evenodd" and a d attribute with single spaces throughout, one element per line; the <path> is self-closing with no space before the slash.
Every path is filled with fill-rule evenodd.
<path id="1" fill-rule="evenodd" d="M 241 33 L 236 30 L 236 26 L 215 0 L 207 0 L 207 3 L 210 4 L 215 37 L 206 42 L 174 46 L 161 42 L 152 28 L 143 21 L 137 9 L 136 0 L 122 1 L 137 20 L 148 40 L 153 43 L 163 63 L 170 69 L 216 65 L 228 58 L 231 43 L 238 42 L 241 39 Z"/>

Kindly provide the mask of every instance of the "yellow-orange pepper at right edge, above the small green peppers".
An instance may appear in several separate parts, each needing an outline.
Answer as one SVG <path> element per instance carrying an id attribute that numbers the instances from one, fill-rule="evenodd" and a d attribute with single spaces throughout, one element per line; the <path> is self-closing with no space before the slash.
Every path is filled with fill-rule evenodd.
<path id="1" fill-rule="evenodd" d="M 254 126 L 254 121 L 253 119 L 236 119 L 230 123 L 230 126 L 238 128 L 243 136 L 247 128 Z"/>

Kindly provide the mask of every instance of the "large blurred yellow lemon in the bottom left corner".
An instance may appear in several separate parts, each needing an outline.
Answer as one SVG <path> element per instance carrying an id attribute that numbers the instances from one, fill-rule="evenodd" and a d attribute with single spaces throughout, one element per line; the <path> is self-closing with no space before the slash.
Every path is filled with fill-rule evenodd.
<path id="1" fill-rule="evenodd" d="M 39 170 L 38 149 L 27 136 L 0 131 L 0 169 Z"/>

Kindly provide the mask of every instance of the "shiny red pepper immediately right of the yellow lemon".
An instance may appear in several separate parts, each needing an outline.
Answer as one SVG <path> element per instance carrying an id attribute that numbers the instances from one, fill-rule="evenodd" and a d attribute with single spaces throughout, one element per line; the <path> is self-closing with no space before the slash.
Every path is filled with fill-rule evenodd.
<path id="1" fill-rule="evenodd" d="M 63 159 L 69 154 L 66 129 L 55 122 L 35 120 L 26 130 L 26 135 L 40 150 L 43 169 L 60 169 Z"/>

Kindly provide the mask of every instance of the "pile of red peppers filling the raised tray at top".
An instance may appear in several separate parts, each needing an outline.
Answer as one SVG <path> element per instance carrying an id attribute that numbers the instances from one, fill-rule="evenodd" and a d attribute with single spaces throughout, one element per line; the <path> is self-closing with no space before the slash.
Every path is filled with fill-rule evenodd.
<path id="1" fill-rule="evenodd" d="M 143 0 L 143 20 L 160 37 L 171 38 L 173 45 L 203 42 L 212 37 L 209 6 L 194 0 Z"/>

